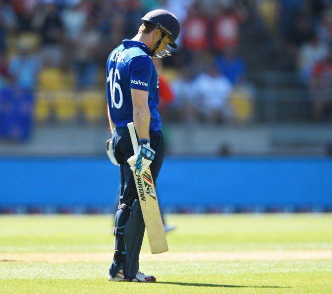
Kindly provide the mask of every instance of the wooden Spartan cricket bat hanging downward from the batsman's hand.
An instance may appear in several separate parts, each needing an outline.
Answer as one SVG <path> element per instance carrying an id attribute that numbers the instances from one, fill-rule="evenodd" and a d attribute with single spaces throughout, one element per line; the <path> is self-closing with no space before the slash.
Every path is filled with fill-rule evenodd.
<path id="1" fill-rule="evenodd" d="M 136 152 L 138 149 L 138 142 L 134 123 L 128 123 L 127 127 L 129 129 L 134 152 Z M 141 204 L 146 232 L 148 234 L 151 253 L 166 252 L 168 251 L 167 240 L 150 167 L 140 176 L 136 175 L 135 171 L 133 171 L 133 175 L 138 199 Z"/>

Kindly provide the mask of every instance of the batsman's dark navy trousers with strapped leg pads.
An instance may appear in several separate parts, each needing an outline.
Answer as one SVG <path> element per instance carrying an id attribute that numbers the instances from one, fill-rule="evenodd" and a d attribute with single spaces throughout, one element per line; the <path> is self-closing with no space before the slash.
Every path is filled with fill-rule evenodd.
<path id="1" fill-rule="evenodd" d="M 156 151 L 150 165 L 156 185 L 165 153 L 162 131 L 150 131 L 150 147 Z M 115 128 L 112 148 L 120 166 L 120 197 L 114 219 L 115 253 L 110 275 L 114 277 L 118 270 L 123 269 L 125 277 L 133 279 L 139 269 L 139 253 L 145 225 L 133 172 L 127 163 L 127 159 L 134 154 L 128 128 Z"/>

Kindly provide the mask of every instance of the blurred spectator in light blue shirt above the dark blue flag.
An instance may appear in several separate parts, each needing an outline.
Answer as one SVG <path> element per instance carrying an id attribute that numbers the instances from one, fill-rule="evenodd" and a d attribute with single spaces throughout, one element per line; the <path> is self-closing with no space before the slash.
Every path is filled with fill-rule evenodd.
<path id="1" fill-rule="evenodd" d="M 8 73 L 13 84 L 25 91 L 33 91 L 37 86 L 40 70 L 40 59 L 33 54 L 29 39 L 21 38 L 17 54 L 9 60 Z"/>

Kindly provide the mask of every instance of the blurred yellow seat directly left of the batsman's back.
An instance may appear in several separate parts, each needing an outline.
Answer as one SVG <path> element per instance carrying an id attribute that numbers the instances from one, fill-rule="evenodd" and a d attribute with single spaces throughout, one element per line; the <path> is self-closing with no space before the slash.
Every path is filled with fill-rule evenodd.
<path id="1" fill-rule="evenodd" d="M 107 116 L 106 98 L 103 92 L 88 90 L 81 94 L 81 107 L 84 119 L 99 122 Z"/>

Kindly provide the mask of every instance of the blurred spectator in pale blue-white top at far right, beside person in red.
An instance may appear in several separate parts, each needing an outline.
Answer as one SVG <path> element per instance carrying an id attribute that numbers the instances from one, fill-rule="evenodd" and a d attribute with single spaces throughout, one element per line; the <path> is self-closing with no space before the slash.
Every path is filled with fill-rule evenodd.
<path id="1" fill-rule="evenodd" d="M 313 66 L 326 57 L 328 46 L 313 35 L 309 43 L 301 46 L 299 52 L 299 70 L 305 83 L 309 81 Z"/>

